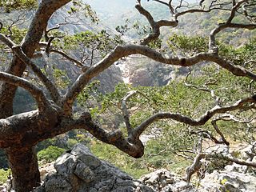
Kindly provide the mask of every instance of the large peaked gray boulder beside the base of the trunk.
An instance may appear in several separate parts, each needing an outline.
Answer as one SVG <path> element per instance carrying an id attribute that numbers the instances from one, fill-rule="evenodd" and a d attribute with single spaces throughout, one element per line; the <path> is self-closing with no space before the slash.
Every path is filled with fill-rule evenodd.
<path id="1" fill-rule="evenodd" d="M 34 192 L 153 192 L 122 170 L 101 161 L 78 144 L 54 163 L 56 172 L 46 175 Z"/>

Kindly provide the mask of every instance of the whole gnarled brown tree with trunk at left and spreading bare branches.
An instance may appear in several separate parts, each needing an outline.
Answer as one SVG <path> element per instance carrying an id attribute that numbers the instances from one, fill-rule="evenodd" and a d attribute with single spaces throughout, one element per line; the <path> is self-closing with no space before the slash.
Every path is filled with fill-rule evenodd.
<path id="1" fill-rule="evenodd" d="M 28 4 L 26 4 L 26 1 L 17 1 L 17 3 L 14 1 L 15 3 L 13 4 L 9 2 L 10 1 L 1 2 L 0 5 L 3 7 L 1 11 L 8 13 L 11 10 L 17 10 L 21 5 L 25 8 L 31 7 L 31 5 L 34 7 L 37 1 L 29 1 L 30 3 Z M 0 72 L 0 80 L 2 81 L 0 92 L 0 148 L 6 151 L 14 178 L 14 189 L 16 191 L 30 191 L 40 184 L 40 174 L 34 146 L 46 138 L 52 138 L 58 134 L 66 133 L 68 130 L 87 130 L 102 142 L 116 146 L 119 150 L 122 150 L 134 158 L 140 158 L 144 153 L 144 146 L 139 136 L 150 124 L 160 119 L 173 119 L 190 126 L 201 126 L 216 114 L 223 114 L 240 109 L 246 110 L 246 107 L 250 109 L 254 108 L 256 95 L 252 94 L 250 97 L 242 98 L 230 106 L 220 106 L 217 103 L 214 108 L 207 110 L 206 113 L 198 119 L 178 113 L 158 112 L 157 114 L 152 114 L 150 118 L 145 119 L 140 125 L 132 127 L 126 102 L 137 93 L 131 92 L 127 94 L 126 98 L 122 99 L 123 116 L 128 133 L 127 137 L 122 134 L 121 130 L 107 132 L 102 129 L 94 122 L 89 112 L 83 112 L 79 117 L 74 117 L 74 102 L 78 94 L 88 86 L 90 80 L 102 73 L 103 70 L 109 68 L 114 62 L 132 54 L 141 54 L 157 62 L 173 66 L 194 66 L 199 62 L 214 62 L 236 76 L 250 78 L 252 81 L 255 81 L 256 74 L 254 74 L 254 72 L 236 65 L 234 61 L 224 58 L 218 53 L 216 36 L 223 30 L 229 28 L 254 30 L 256 24 L 255 2 L 253 0 L 230 0 L 226 2 L 201 1 L 196 6 L 190 6 L 185 1 L 174 3 L 173 1 L 166 2 L 155 0 L 154 2 L 158 2 L 170 10 L 171 19 L 159 21 L 155 21 L 150 12 L 142 6 L 141 1 L 138 1 L 135 8 L 150 23 L 151 30 L 149 34 L 147 34 L 145 38 L 142 38 L 141 41 L 135 42 L 134 44 L 115 46 L 102 60 L 91 66 L 85 66 L 84 63 L 76 61 L 67 54 L 59 52 L 81 67 L 81 74 L 77 80 L 66 90 L 65 94 L 62 94 L 52 81 L 52 78 L 47 77 L 46 73 L 40 69 L 40 66 L 38 66 L 32 58 L 34 58 L 36 50 L 40 49 L 49 57 L 54 38 L 47 35 L 50 31 L 48 22 L 58 9 L 66 6 L 69 2 L 73 2 L 74 4 L 78 3 L 78 1 L 71 0 L 43 0 L 39 2 L 35 11 L 32 12 L 30 26 L 24 37 L 22 37 L 22 42 L 15 43 L 12 41 L 11 37 L 9 38 L 5 34 L 0 34 L 0 40 L 3 45 L 1 49 L 6 50 L 6 48 L 8 48 L 12 53 L 9 67 L 5 72 Z M 19 3 L 21 5 L 19 5 Z M 160 28 L 163 26 L 178 26 L 178 19 L 184 14 L 207 14 L 213 10 L 222 10 L 226 12 L 228 16 L 225 22 L 219 23 L 218 26 L 210 32 L 208 50 L 187 57 L 162 54 L 157 49 L 154 50 L 152 42 L 158 40 Z M 71 12 L 75 11 L 76 10 L 71 9 Z M 242 17 L 245 22 L 234 22 L 234 18 L 238 15 Z M 0 29 L 4 29 L 2 23 L 0 24 Z M 60 39 L 62 40 L 62 38 Z M 37 78 L 40 79 L 44 85 L 44 89 L 22 78 L 26 68 L 32 70 Z M 22 114 L 13 114 L 14 95 L 18 86 L 29 91 L 34 97 L 38 106 L 37 110 Z M 225 140 L 222 142 L 225 142 Z M 200 155 L 198 155 L 200 156 L 198 159 L 206 156 L 206 154 Z M 232 158 L 230 158 L 230 161 L 241 163 L 240 160 L 237 161 Z M 255 166 L 250 162 L 246 165 L 248 164 Z"/>

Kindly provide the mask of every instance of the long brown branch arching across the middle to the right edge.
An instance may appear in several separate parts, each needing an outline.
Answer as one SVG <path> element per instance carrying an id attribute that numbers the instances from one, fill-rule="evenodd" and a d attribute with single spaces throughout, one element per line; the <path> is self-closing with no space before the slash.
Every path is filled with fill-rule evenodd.
<path id="1" fill-rule="evenodd" d="M 150 49 L 147 46 L 138 46 L 138 45 L 127 45 L 127 46 L 117 46 L 110 54 L 107 54 L 100 62 L 91 66 L 89 70 L 86 70 L 85 73 L 81 74 L 73 86 L 70 87 L 70 90 L 66 93 L 63 98 L 63 107 L 66 111 L 66 114 L 70 114 L 71 106 L 74 102 L 74 99 L 77 97 L 78 93 L 82 91 L 84 86 L 90 82 L 91 78 L 94 78 L 96 75 L 101 73 L 103 70 L 106 70 L 114 62 L 117 62 L 118 59 L 127 57 L 131 54 L 142 54 L 148 58 L 154 59 L 154 61 L 162 62 L 165 64 L 170 64 L 174 66 L 193 66 L 198 62 L 215 62 L 219 66 L 222 66 L 226 70 L 229 70 L 232 74 L 237 76 L 244 76 L 253 80 L 256 80 L 256 74 L 246 70 L 242 66 L 236 66 L 232 62 L 226 61 L 216 54 L 211 53 L 200 53 L 196 54 L 189 58 L 183 57 L 173 57 L 168 54 L 161 54 L 155 50 Z"/>

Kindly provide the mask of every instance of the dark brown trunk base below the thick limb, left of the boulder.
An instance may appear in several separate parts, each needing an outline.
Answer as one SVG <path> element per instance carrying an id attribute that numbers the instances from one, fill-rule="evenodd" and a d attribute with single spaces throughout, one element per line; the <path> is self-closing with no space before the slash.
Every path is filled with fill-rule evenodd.
<path id="1" fill-rule="evenodd" d="M 38 159 L 34 146 L 10 147 L 6 150 L 13 176 L 13 186 L 16 192 L 31 191 L 40 185 L 40 173 L 38 170 Z"/>

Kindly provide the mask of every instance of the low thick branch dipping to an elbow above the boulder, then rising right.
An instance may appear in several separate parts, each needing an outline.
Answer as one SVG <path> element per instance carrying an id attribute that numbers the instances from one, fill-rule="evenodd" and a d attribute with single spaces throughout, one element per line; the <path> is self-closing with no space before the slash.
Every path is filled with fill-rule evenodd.
<path id="1" fill-rule="evenodd" d="M 135 92 L 132 92 L 130 95 L 134 93 Z M 130 156 L 134 158 L 140 158 L 144 154 L 144 146 L 142 145 L 142 142 L 140 141 L 139 136 L 152 123 L 160 119 L 172 119 L 178 122 L 186 123 L 187 125 L 190 125 L 190 126 L 201 126 L 201 125 L 204 125 L 206 122 L 208 122 L 210 118 L 214 116 L 214 114 L 223 114 L 223 113 L 226 113 L 227 111 L 239 110 L 246 104 L 255 103 L 256 102 L 255 98 L 256 98 L 256 95 L 239 100 L 238 102 L 235 102 L 231 106 L 214 107 L 213 109 L 206 111 L 206 113 L 203 114 L 198 119 L 193 119 L 182 114 L 174 114 L 174 113 L 154 114 L 150 118 L 146 119 L 146 121 L 142 122 L 136 128 L 131 129 L 130 127 L 130 134 L 128 135 L 128 138 L 124 138 L 120 130 L 114 131 L 114 132 L 106 132 L 106 130 L 103 130 L 92 120 L 90 113 L 84 113 L 80 118 L 78 118 L 78 120 L 73 122 L 72 126 L 69 126 L 68 129 L 71 130 L 71 129 L 77 128 L 77 129 L 88 130 L 90 134 L 92 134 L 95 138 L 98 138 L 102 142 L 106 142 L 108 144 L 116 146 L 118 147 L 119 150 L 122 150 L 126 154 L 130 154 Z M 204 154 L 203 157 L 205 156 L 206 155 Z M 232 160 L 233 162 L 244 163 L 243 161 L 240 161 L 236 158 L 230 158 L 230 157 L 225 157 L 225 158 L 229 158 L 230 161 Z M 255 163 L 249 163 L 249 164 L 254 166 Z"/>

